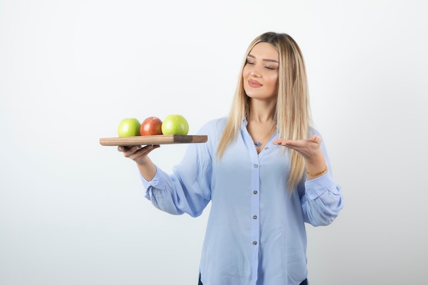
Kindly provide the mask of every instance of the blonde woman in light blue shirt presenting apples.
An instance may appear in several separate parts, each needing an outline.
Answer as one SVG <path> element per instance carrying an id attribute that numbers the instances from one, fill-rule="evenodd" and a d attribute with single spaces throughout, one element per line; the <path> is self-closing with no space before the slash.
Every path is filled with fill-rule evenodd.
<path id="1" fill-rule="evenodd" d="M 146 198 L 192 217 L 211 211 L 200 260 L 203 285 L 308 284 L 304 223 L 326 226 L 343 208 L 321 135 L 310 126 L 302 52 L 285 33 L 248 47 L 228 118 L 211 120 L 172 174 L 148 154 L 119 147 L 137 163 Z"/>

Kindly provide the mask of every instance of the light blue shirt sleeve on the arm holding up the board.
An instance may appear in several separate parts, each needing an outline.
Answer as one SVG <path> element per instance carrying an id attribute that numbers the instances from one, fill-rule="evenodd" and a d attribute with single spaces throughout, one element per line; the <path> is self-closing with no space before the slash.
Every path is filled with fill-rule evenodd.
<path id="1" fill-rule="evenodd" d="M 155 177 L 147 181 L 141 176 L 146 198 L 161 211 L 173 215 L 198 217 L 211 200 L 213 133 L 203 126 L 198 135 L 208 135 L 206 143 L 189 144 L 185 155 L 172 174 L 157 166 Z"/>

